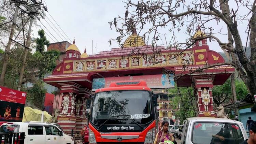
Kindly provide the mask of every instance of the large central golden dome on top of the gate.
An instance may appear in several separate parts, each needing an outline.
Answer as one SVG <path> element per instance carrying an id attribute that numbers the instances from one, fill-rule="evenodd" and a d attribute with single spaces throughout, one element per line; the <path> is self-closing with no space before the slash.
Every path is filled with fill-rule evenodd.
<path id="1" fill-rule="evenodd" d="M 134 40 L 136 40 L 134 42 Z M 139 36 L 134 28 L 132 34 L 125 40 L 123 47 L 143 46 L 146 45 L 141 36 Z"/>

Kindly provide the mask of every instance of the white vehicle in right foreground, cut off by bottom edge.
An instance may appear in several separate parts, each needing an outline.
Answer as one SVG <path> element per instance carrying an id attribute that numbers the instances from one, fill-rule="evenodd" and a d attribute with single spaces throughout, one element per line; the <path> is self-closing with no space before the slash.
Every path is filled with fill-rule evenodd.
<path id="1" fill-rule="evenodd" d="M 240 144 L 248 139 L 240 121 L 193 117 L 184 120 L 181 144 Z"/>

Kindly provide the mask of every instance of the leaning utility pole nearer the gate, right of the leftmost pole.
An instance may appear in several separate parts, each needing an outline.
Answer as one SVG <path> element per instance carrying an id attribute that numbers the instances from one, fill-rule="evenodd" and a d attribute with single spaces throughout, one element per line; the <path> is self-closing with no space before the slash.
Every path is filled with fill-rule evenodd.
<path id="1" fill-rule="evenodd" d="M 22 59 L 22 68 L 20 70 L 20 74 L 19 74 L 19 83 L 18 83 L 18 90 L 20 90 L 21 85 L 22 85 L 22 79 L 23 79 L 23 75 L 24 75 L 24 69 L 25 69 L 25 65 L 26 65 L 26 59 L 27 59 L 27 54 L 28 54 L 28 48 L 30 45 L 30 32 L 31 32 L 31 27 L 32 27 L 32 23 L 33 23 L 33 18 L 32 16 L 30 17 L 30 23 L 29 23 L 29 28 L 28 28 L 28 35 L 27 35 L 27 41 L 26 41 L 26 47 L 25 47 L 25 52 L 23 55 L 23 59 Z"/>

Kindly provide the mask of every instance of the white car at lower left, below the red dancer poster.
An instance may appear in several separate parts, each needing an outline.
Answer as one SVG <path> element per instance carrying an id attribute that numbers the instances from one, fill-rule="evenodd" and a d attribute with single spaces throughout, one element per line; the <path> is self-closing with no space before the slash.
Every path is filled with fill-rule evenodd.
<path id="1" fill-rule="evenodd" d="M 73 138 L 54 124 L 39 121 L 3 123 L 0 132 L 25 132 L 25 144 L 74 144 Z"/>

